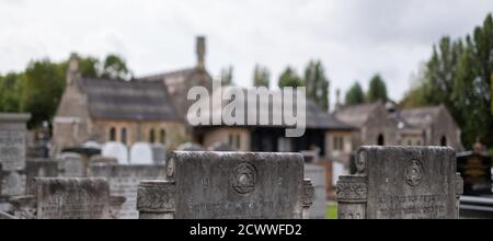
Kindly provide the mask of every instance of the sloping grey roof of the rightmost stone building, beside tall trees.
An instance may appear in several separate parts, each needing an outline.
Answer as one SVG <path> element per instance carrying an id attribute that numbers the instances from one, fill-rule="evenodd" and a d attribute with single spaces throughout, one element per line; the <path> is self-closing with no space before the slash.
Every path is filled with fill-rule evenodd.
<path id="1" fill-rule="evenodd" d="M 424 128 L 437 118 L 439 112 L 440 106 L 428 106 L 402 110 L 399 115 L 411 127 Z"/>

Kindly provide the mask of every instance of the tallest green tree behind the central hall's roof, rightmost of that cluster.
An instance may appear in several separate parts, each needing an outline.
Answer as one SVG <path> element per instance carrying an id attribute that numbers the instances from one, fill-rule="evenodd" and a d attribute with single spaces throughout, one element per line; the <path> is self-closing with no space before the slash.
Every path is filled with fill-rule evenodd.
<path id="1" fill-rule="evenodd" d="M 329 108 L 329 80 L 320 60 L 310 61 L 305 70 L 307 96 L 324 110 Z"/>

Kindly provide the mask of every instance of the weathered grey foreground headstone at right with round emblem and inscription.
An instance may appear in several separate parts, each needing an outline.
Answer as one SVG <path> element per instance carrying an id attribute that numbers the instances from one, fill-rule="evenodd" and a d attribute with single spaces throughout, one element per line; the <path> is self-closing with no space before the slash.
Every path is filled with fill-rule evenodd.
<path id="1" fill-rule="evenodd" d="M 455 219 L 461 180 L 445 147 L 362 147 L 337 182 L 340 219 Z"/>

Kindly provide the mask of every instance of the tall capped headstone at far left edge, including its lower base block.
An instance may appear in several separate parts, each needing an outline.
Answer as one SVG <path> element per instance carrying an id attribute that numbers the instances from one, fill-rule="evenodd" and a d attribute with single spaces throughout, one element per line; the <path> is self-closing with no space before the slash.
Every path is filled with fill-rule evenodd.
<path id="1" fill-rule="evenodd" d="M 0 114 L 0 203 L 25 192 L 25 141 L 28 114 Z"/>

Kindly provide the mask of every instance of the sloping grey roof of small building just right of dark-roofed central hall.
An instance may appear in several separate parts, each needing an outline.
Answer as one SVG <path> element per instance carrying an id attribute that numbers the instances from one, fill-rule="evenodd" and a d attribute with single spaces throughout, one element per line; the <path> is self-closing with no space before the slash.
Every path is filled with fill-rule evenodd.
<path id="1" fill-rule="evenodd" d="M 362 127 L 368 119 L 368 116 L 381 105 L 381 102 L 369 104 L 346 105 L 335 111 L 334 115 L 341 122 L 347 123 L 354 127 Z"/>

